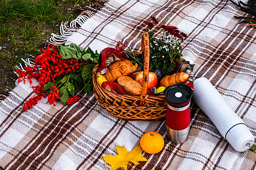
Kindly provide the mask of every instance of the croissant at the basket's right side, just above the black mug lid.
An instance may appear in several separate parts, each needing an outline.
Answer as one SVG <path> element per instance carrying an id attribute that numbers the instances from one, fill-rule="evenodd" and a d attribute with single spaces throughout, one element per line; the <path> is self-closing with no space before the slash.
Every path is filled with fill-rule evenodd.
<path id="1" fill-rule="evenodd" d="M 174 84 L 184 83 L 188 79 L 189 75 L 185 72 L 175 73 L 172 75 L 164 76 L 160 82 L 160 86 L 168 87 Z"/>

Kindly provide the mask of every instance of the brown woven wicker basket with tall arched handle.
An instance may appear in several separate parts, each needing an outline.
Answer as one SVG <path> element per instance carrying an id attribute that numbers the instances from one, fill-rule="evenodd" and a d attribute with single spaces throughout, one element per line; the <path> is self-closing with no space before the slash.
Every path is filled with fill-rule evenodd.
<path id="1" fill-rule="evenodd" d="M 163 120 L 166 116 L 166 97 L 164 95 L 147 95 L 150 48 L 148 33 L 142 36 L 142 53 L 144 53 L 143 83 L 141 96 L 118 95 L 101 88 L 96 82 L 97 70 L 93 69 L 93 88 L 96 99 L 106 112 L 122 120 Z"/>

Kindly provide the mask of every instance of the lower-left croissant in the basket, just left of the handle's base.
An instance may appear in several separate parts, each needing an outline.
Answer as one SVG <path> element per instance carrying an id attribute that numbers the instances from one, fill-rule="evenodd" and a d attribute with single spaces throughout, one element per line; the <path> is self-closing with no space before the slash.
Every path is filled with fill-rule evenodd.
<path id="1" fill-rule="evenodd" d="M 120 76 L 117 79 L 117 83 L 125 90 L 129 95 L 141 95 L 142 86 L 136 80 L 130 78 L 130 76 Z"/>

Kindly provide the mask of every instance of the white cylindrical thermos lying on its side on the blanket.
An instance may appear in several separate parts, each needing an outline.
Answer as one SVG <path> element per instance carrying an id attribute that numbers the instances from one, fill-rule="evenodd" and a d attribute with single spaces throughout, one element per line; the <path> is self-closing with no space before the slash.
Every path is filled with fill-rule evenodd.
<path id="1" fill-rule="evenodd" d="M 249 150 L 254 136 L 207 78 L 194 81 L 193 100 L 210 118 L 222 137 L 237 151 Z"/>

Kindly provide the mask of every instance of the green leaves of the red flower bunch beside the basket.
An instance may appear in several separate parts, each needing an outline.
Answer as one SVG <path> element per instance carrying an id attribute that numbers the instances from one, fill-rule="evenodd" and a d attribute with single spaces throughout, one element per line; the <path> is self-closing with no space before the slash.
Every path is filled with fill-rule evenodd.
<path id="1" fill-rule="evenodd" d="M 44 91 L 51 92 L 53 88 L 51 86 L 56 86 L 59 89 L 60 101 L 65 104 L 70 96 L 75 96 L 76 91 L 80 91 L 79 94 L 90 94 L 93 87 L 93 82 L 91 81 L 93 75 L 93 68 L 98 63 L 98 57 L 100 54 L 94 53 L 92 49 L 87 50 L 82 49 L 76 44 L 70 44 L 68 46 L 59 45 L 57 50 L 62 59 L 84 59 L 85 63 L 80 63 L 79 69 L 75 72 L 67 73 L 65 75 L 60 75 L 56 78 L 54 82 L 48 82 L 44 84 Z"/>

